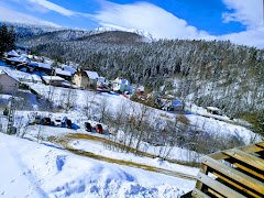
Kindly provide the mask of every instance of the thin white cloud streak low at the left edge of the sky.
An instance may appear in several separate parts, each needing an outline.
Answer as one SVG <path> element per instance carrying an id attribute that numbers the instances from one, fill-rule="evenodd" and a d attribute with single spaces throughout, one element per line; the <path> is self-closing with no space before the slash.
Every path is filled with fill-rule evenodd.
<path id="1" fill-rule="evenodd" d="M 56 26 L 56 28 L 59 26 L 58 24 L 55 24 L 53 22 L 44 21 L 29 14 L 13 11 L 4 7 L 0 7 L 0 21 L 28 23 L 28 24 L 41 24 L 41 25 L 48 25 L 48 26 Z"/>

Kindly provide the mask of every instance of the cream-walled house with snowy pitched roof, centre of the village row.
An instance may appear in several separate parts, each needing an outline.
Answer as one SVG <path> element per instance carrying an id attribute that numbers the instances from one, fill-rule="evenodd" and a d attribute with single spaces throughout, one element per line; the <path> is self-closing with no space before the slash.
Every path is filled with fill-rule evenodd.
<path id="1" fill-rule="evenodd" d="M 77 70 L 74 75 L 73 82 L 78 88 L 97 88 L 97 80 L 99 78 L 99 75 L 97 72 L 91 70 Z"/>

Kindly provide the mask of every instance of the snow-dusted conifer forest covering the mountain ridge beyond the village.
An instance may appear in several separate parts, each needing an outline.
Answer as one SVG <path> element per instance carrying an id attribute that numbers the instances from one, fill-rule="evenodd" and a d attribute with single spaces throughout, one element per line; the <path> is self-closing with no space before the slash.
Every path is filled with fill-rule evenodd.
<path id="1" fill-rule="evenodd" d="M 19 42 L 37 54 L 79 63 L 110 79 L 123 76 L 152 90 L 166 85 L 177 97 L 219 107 L 231 116 L 264 108 L 264 51 L 253 47 L 228 41 L 150 42 L 121 31 L 81 35 L 64 30 Z"/>

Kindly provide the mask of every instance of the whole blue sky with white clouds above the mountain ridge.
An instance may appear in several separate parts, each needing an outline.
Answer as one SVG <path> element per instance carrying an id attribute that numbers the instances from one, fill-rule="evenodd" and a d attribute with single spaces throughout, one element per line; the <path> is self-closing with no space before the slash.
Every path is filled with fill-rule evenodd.
<path id="1" fill-rule="evenodd" d="M 0 21 L 135 29 L 264 48 L 263 0 L 0 0 Z"/>

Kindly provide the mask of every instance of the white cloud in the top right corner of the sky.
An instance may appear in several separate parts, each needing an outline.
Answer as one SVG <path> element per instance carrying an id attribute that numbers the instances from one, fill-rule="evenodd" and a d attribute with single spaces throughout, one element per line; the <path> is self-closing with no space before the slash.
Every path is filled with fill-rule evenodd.
<path id="1" fill-rule="evenodd" d="M 263 0 L 223 0 L 230 10 L 222 14 L 223 22 L 241 22 L 249 29 L 263 23 Z"/>

